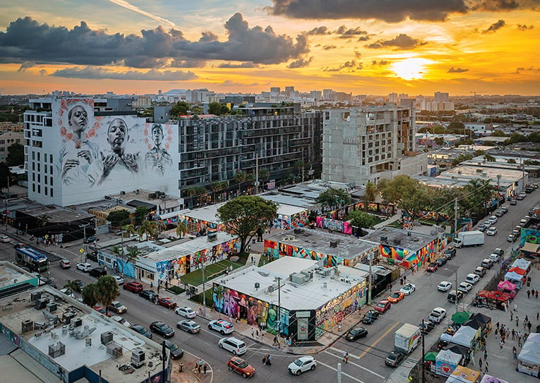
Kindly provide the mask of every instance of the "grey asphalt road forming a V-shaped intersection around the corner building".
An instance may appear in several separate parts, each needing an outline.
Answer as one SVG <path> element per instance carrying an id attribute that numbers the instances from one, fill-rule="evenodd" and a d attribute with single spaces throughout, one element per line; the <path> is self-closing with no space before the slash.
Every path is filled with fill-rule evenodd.
<path id="1" fill-rule="evenodd" d="M 348 342 L 340 339 L 332 346 L 323 350 L 316 355 L 318 367 L 315 371 L 306 372 L 299 377 L 292 377 L 287 371 L 287 365 L 291 363 L 296 356 L 283 353 L 275 348 L 270 348 L 264 344 L 256 343 L 250 338 L 241 334 L 234 334 L 238 338 L 243 338 L 248 346 L 248 353 L 243 356 L 249 363 L 256 367 L 256 375 L 251 379 L 252 382 L 331 382 L 337 377 L 337 364 L 342 363 L 342 350 L 349 351 L 349 363 L 342 363 L 342 382 L 385 382 L 388 377 L 394 372 L 394 369 L 387 367 L 384 364 L 386 355 L 394 348 L 394 333 L 401 324 L 407 322 L 411 324 L 419 324 L 421 319 L 427 319 L 429 312 L 433 307 L 443 307 L 447 310 L 447 320 L 443 324 L 438 325 L 438 328 L 433 330 L 432 334 L 440 334 L 442 326 L 448 323 L 448 319 L 456 311 L 456 306 L 446 300 L 445 293 L 439 293 L 436 289 L 440 281 L 450 281 L 455 283 L 456 272 L 457 282 L 464 281 L 467 273 L 471 273 L 476 266 L 479 266 L 482 259 L 491 254 L 491 250 L 495 247 L 502 249 L 515 248 L 518 242 L 511 244 L 506 241 L 509 232 L 512 231 L 523 216 L 526 216 L 529 208 L 538 203 L 538 191 L 528 194 L 523 201 L 518 201 L 517 206 L 508 206 L 508 213 L 505 216 L 498 218 L 496 227 L 498 234 L 489 237 L 486 235 L 486 243 L 481 247 L 469 247 L 457 249 L 457 256 L 448 261 L 435 273 L 428 273 L 421 270 L 412 276 L 407 273 L 407 282 L 416 285 L 416 292 L 405 297 L 404 300 L 392 305 L 392 309 L 383 315 L 371 325 L 363 325 L 368 329 L 368 336 L 356 342 Z M 11 232 L 13 234 L 13 232 Z M 18 239 L 12 242 L 19 242 Z M 51 277 L 56 280 L 57 285 L 61 288 L 69 279 L 80 279 L 85 283 L 94 282 L 95 278 L 88 276 L 88 273 L 83 273 L 75 269 L 75 264 L 80 261 L 78 254 L 79 247 L 71 247 L 68 249 L 50 249 L 54 254 L 59 254 L 61 257 L 71 259 L 73 266 L 71 269 L 60 269 L 57 261 L 52 262 Z M 15 250 L 13 245 L 9 243 L 0 243 L 0 259 L 13 260 Z M 484 278 L 477 283 L 473 290 L 464 297 L 462 304 L 469 304 L 474 299 L 477 290 L 491 279 L 491 276 L 496 272 L 493 269 L 486 273 Z M 399 283 L 397 284 L 399 285 Z M 394 285 L 394 288 L 399 287 Z M 378 302 L 381 298 L 376 298 L 373 302 Z M 164 307 L 152 305 L 152 303 L 136 294 L 129 293 L 126 290 L 121 290 L 119 300 L 128 307 L 128 312 L 123 315 L 128 322 L 132 324 L 143 324 L 148 326 L 155 320 L 162 320 L 171 326 L 176 326 L 176 322 L 183 319 L 174 314 L 173 310 L 167 310 Z M 361 318 L 359 314 L 353 314 L 357 319 Z M 200 324 L 202 331 L 199 334 L 191 335 L 184 331 L 176 329 L 176 334 L 171 339 L 178 343 L 186 353 L 193 354 L 192 358 L 203 358 L 211 367 L 212 381 L 215 382 L 238 382 L 242 379 L 234 372 L 227 370 L 227 361 L 232 354 L 226 350 L 222 350 L 217 346 L 217 341 L 221 335 L 215 331 L 208 330 L 205 319 L 197 317 L 195 319 Z M 159 336 L 154 335 L 154 340 L 159 341 Z M 428 346 L 428 345 L 426 345 Z M 272 354 L 272 366 L 262 365 L 263 355 L 266 353 Z M 186 357 L 185 357 L 186 358 Z M 187 357 L 188 358 L 188 357 Z M 413 365 L 416 363 L 414 358 L 409 358 L 405 361 L 406 364 Z"/>

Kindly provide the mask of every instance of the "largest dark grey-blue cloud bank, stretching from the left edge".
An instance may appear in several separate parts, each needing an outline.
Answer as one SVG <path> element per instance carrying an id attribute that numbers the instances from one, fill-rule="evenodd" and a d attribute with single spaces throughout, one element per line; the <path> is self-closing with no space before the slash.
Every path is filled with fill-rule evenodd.
<path id="1" fill-rule="evenodd" d="M 225 23 L 228 38 L 220 42 L 211 32 L 189 41 L 180 30 L 141 30 L 140 35 L 92 30 L 81 21 L 71 30 L 39 24 L 32 18 L 13 21 L 0 32 L 0 63 L 122 64 L 134 68 L 162 68 L 168 61 L 220 59 L 279 64 L 309 52 L 306 36 L 296 42 L 271 27 L 248 27 L 241 13 Z"/>

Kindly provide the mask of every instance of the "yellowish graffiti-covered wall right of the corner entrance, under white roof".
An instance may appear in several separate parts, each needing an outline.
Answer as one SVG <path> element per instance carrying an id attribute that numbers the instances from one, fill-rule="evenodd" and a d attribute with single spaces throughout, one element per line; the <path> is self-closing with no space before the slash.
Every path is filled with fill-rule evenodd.
<path id="1" fill-rule="evenodd" d="M 355 312 L 366 304 L 366 282 L 358 283 L 346 292 L 328 301 L 316 311 L 316 334 L 315 337 L 323 335 L 325 331 L 330 331 L 344 317 Z"/>

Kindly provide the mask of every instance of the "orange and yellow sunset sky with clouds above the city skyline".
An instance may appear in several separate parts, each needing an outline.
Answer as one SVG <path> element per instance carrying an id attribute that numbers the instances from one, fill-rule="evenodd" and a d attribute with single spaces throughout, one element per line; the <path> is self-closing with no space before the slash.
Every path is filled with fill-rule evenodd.
<path id="1" fill-rule="evenodd" d="M 17 0 L 0 93 L 540 94 L 540 0 Z"/>

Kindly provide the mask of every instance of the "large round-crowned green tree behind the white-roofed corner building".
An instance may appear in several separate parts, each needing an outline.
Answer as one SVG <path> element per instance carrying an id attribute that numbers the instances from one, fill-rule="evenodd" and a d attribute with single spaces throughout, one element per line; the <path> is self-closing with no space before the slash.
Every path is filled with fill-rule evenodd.
<path id="1" fill-rule="evenodd" d="M 217 209 L 217 218 L 227 231 L 239 237 L 240 252 L 244 252 L 257 228 L 267 227 L 276 217 L 277 205 L 260 196 L 239 196 Z"/>

